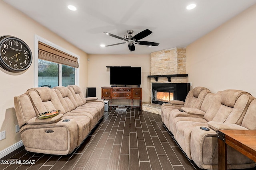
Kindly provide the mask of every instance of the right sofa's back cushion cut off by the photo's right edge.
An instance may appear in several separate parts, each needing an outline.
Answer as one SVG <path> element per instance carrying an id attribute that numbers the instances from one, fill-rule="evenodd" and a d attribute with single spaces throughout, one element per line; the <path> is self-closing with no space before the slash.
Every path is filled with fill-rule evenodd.
<path id="1" fill-rule="evenodd" d="M 250 103 L 241 126 L 246 127 L 249 130 L 256 130 L 256 99 Z"/>

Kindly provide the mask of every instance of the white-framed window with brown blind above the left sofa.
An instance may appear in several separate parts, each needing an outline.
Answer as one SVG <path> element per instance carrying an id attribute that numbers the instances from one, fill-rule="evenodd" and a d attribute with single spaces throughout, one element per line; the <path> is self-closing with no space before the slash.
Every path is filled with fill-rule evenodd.
<path id="1" fill-rule="evenodd" d="M 35 36 L 35 86 L 78 85 L 79 56 Z"/>

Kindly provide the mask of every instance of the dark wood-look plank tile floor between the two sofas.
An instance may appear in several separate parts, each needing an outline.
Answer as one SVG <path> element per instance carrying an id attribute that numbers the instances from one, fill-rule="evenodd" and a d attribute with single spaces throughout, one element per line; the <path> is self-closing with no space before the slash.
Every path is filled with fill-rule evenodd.
<path id="1" fill-rule="evenodd" d="M 0 170 L 200 170 L 172 139 L 161 115 L 138 109 L 105 112 L 72 154 L 38 154 L 20 147 L 0 160 L 28 161 L 0 164 Z"/>

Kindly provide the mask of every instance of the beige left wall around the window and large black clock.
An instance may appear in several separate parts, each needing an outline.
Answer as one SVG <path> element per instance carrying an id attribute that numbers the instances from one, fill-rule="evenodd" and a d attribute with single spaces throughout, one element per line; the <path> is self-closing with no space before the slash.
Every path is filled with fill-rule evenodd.
<path id="1" fill-rule="evenodd" d="M 55 33 L 52 33 L 36 21 L 18 12 L 3 1 L 0 1 L 0 16 L 2 18 L 0 36 L 13 35 L 25 41 L 34 56 L 34 35 L 39 35 L 48 41 L 80 56 L 80 86 L 87 86 L 87 54 L 74 47 Z M 34 61 L 28 70 L 21 73 L 10 73 L 0 68 L 0 131 L 6 130 L 6 139 L 0 141 L 0 151 L 21 140 L 20 134 L 15 133 L 18 124 L 14 111 L 14 96 L 34 87 Z"/>

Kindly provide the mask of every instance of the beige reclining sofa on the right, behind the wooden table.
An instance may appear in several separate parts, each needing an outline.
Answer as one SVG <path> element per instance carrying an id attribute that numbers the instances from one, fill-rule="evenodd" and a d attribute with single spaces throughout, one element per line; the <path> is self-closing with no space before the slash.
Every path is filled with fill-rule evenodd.
<path id="1" fill-rule="evenodd" d="M 193 101 L 189 102 L 192 102 L 190 106 L 194 106 Z M 186 156 L 202 169 L 218 169 L 218 129 L 256 130 L 256 99 L 242 90 L 223 90 L 216 94 L 207 92 L 197 108 L 180 108 L 183 112 L 176 106 L 163 105 L 162 121 Z M 207 127 L 208 130 L 200 127 Z M 255 162 L 228 147 L 228 169 L 252 168 L 255 165 Z"/>

